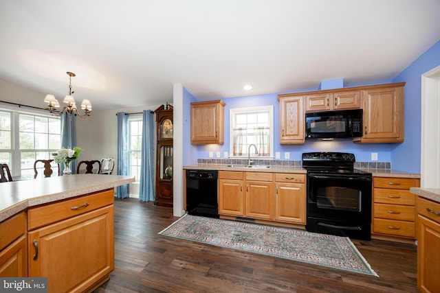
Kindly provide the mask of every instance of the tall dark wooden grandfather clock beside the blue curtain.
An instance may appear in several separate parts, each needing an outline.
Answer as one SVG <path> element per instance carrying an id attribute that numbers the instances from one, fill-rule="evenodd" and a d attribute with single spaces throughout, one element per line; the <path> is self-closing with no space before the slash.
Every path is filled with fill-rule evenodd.
<path id="1" fill-rule="evenodd" d="M 157 108 L 156 194 L 154 204 L 173 207 L 173 106 Z"/>

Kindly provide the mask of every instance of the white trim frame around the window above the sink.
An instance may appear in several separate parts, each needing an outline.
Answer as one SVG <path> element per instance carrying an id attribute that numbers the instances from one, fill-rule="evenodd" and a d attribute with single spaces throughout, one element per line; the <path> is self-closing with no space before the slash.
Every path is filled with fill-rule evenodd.
<path id="1" fill-rule="evenodd" d="M 246 108 L 233 108 L 229 110 L 229 157 L 231 159 L 248 158 L 248 155 L 234 156 L 234 121 L 237 113 L 256 113 L 269 112 L 269 140 L 270 140 L 270 154 L 269 156 L 251 156 L 253 159 L 274 159 L 274 106 L 258 106 Z"/>

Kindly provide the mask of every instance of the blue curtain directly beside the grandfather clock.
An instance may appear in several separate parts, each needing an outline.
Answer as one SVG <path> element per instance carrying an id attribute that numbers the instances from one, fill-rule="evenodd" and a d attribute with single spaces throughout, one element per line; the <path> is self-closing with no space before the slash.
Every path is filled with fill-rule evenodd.
<path id="1" fill-rule="evenodd" d="M 139 200 L 154 200 L 154 141 L 153 112 L 144 110 L 142 113 L 142 148 L 140 163 Z"/>

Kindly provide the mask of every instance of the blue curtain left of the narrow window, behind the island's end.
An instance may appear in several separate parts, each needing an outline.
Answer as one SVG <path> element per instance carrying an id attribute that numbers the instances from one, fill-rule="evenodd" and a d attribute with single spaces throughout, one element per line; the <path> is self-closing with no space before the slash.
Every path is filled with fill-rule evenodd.
<path id="1" fill-rule="evenodd" d="M 118 136 L 116 147 L 116 174 L 129 174 L 129 115 L 124 112 L 118 112 Z M 116 187 L 117 198 L 129 197 L 129 185 L 121 185 Z"/>

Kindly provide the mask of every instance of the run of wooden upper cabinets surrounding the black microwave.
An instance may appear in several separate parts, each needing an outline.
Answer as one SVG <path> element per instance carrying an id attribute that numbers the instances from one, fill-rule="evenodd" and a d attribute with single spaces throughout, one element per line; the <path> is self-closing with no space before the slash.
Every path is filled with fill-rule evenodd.
<path id="1" fill-rule="evenodd" d="M 358 143 L 404 141 L 405 82 L 278 95 L 280 143 L 305 143 L 305 112 L 362 108 L 363 135 Z"/>

